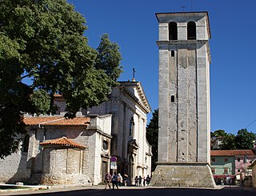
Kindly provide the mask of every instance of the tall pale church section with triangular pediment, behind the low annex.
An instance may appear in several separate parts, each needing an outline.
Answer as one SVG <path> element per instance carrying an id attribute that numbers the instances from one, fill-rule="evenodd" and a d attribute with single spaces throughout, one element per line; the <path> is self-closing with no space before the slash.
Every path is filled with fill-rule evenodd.
<path id="1" fill-rule="evenodd" d="M 117 158 L 117 169 L 109 170 L 126 174 L 134 183 L 135 176 L 151 175 L 151 146 L 146 140 L 146 114 L 150 104 L 141 82 L 119 82 L 110 94 L 110 101 L 100 106 L 82 109 L 82 115 L 112 114 L 111 156 Z M 62 97 L 56 98 L 60 112 L 66 105 Z"/>

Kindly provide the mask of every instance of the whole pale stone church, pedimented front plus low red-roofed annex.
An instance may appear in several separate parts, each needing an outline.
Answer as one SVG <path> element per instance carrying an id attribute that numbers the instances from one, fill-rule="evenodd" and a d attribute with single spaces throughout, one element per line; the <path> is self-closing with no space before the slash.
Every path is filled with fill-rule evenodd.
<path id="1" fill-rule="evenodd" d="M 120 82 L 108 102 L 64 118 L 66 102 L 56 95 L 58 114 L 24 117 L 26 135 L 17 153 L 0 160 L 0 182 L 97 185 L 105 174 L 151 173 L 151 148 L 146 141 L 150 105 L 140 82 Z M 111 157 L 117 168 L 111 169 Z"/>

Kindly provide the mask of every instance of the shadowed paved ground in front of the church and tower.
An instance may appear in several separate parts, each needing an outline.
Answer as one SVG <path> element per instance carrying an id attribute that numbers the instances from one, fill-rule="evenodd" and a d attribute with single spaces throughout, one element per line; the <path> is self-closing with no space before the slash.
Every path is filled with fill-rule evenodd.
<path id="1" fill-rule="evenodd" d="M 74 187 L 74 188 L 58 188 L 54 190 L 38 190 L 38 191 L 26 191 L 19 193 L 1 193 L 0 195 L 23 195 L 33 194 L 36 196 L 50 195 L 50 196 L 113 196 L 114 194 L 122 196 L 255 196 L 256 190 L 242 190 L 238 187 L 224 187 L 222 189 L 197 189 L 197 188 L 166 188 L 166 187 L 121 187 L 119 190 L 103 190 L 102 187 Z"/>

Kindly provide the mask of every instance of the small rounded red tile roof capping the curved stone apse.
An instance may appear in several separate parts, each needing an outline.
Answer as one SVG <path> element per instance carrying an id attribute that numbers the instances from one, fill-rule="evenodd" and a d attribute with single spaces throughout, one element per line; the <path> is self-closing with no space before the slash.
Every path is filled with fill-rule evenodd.
<path id="1" fill-rule="evenodd" d="M 42 146 L 56 146 L 56 145 L 57 146 L 68 146 L 68 147 L 75 147 L 75 148 L 82 148 L 82 149 L 86 148 L 86 146 L 78 144 L 77 142 L 74 142 L 66 137 L 57 138 L 57 139 L 46 141 L 46 142 L 40 142 L 40 145 L 42 145 Z"/>

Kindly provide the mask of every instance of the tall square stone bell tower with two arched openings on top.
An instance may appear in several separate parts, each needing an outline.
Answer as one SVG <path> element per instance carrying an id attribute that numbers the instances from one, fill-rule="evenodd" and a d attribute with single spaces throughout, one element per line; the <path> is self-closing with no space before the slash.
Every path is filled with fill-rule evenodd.
<path id="1" fill-rule="evenodd" d="M 158 166 L 152 186 L 214 187 L 207 12 L 157 13 Z"/>

